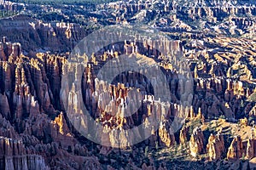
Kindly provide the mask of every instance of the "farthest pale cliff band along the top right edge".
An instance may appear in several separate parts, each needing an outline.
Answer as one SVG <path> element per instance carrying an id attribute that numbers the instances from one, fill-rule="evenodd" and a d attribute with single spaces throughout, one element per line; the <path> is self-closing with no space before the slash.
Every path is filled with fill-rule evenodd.
<path id="1" fill-rule="evenodd" d="M 188 3 L 191 3 L 189 5 Z M 196 3 L 196 4 L 195 4 Z M 229 1 L 201 1 L 201 2 L 183 2 L 182 4 L 178 4 L 176 2 L 170 2 L 170 3 L 148 3 L 148 2 L 134 2 L 134 3 L 128 3 L 128 2 L 119 2 L 109 4 L 109 8 L 115 8 L 115 9 L 124 9 L 123 16 L 126 16 L 127 18 L 129 16 L 132 16 L 134 14 L 137 14 L 142 9 L 154 9 L 154 8 L 160 8 L 162 11 L 160 11 L 160 14 L 164 13 L 170 13 L 171 11 L 174 11 L 174 9 L 177 9 L 177 12 L 183 12 L 185 9 L 187 9 L 189 17 L 191 19 L 194 19 L 199 17 L 207 17 L 209 19 L 215 19 L 215 20 L 221 20 L 225 16 L 231 15 L 231 14 L 254 14 L 255 15 L 255 7 L 251 6 L 230 6 L 228 3 Z M 253 3 L 253 2 L 252 2 Z M 250 3 L 250 4 L 252 4 Z M 225 4 L 228 4 L 225 6 Z M 183 5 L 183 6 L 182 6 Z M 185 7 L 185 8 L 184 8 Z"/>

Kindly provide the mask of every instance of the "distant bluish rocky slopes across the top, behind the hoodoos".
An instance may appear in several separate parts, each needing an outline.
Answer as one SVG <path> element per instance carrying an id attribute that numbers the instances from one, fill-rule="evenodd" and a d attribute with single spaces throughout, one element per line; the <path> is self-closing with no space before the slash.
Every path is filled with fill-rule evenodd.
<path id="1" fill-rule="evenodd" d="M 39 49 L 71 51 L 79 40 L 94 29 L 113 24 L 146 24 L 178 39 L 184 34 L 186 38 L 197 39 L 255 37 L 256 7 L 252 1 L 150 3 L 136 0 L 98 4 L 91 9 L 76 4 L 63 7 L 26 4 L 25 10 L 21 11 L 18 15 L 0 20 L 0 36 L 9 37 L 12 42 L 21 42 L 26 52 Z M 45 16 L 40 17 L 42 14 Z M 71 22 L 76 24 L 69 24 Z"/>

